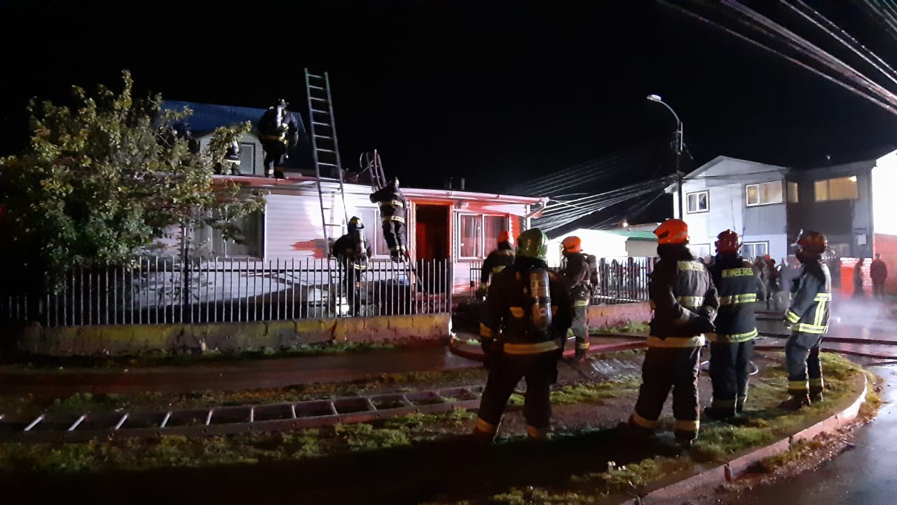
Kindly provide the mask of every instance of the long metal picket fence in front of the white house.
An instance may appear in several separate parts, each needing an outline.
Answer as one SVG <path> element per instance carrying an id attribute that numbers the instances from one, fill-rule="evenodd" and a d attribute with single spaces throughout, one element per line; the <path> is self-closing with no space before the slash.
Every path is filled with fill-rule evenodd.
<path id="1" fill-rule="evenodd" d="M 9 291 L 9 288 L 6 289 Z M 0 297 L 0 321 L 47 326 L 239 323 L 451 311 L 450 261 L 179 261 L 65 274 L 57 294 Z"/>

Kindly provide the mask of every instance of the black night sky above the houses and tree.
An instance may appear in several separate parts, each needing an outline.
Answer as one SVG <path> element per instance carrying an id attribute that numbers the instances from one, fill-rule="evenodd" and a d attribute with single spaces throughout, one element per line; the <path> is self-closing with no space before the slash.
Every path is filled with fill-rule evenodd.
<path id="1" fill-rule="evenodd" d="M 858 4 L 808 3 L 897 64 L 886 50 L 895 40 Z M 376 147 L 388 174 L 430 187 L 454 176 L 468 189 L 503 190 L 645 142 L 663 149 L 675 123 L 649 93 L 678 112 L 697 164 L 717 155 L 800 166 L 849 159 L 892 144 L 897 126 L 823 78 L 656 1 L 113 5 L 0 0 L 0 153 L 21 148 L 29 97 L 65 102 L 72 84 L 118 88 L 123 68 L 140 94 L 251 107 L 283 96 L 303 116 L 303 67 L 327 70 L 344 167 Z"/>

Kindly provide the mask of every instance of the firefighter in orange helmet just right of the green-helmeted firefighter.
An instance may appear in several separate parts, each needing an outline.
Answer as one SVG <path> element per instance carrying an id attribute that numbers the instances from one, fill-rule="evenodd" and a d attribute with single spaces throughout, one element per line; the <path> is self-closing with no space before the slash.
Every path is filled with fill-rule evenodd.
<path id="1" fill-rule="evenodd" d="M 582 252 L 582 240 L 578 236 L 563 239 L 563 256 L 567 265 L 561 271 L 564 286 L 573 298 L 573 323 L 576 337 L 576 359 L 586 359 L 588 351 L 588 301 L 592 297 L 592 266 L 588 254 Z"/>

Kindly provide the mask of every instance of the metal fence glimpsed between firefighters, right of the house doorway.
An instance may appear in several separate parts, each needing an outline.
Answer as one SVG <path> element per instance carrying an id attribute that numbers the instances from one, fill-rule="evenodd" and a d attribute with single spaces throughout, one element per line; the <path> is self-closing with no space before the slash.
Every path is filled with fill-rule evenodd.
<path id="1" fill-rule="evenodd" d="M 598 260 L 598 284 L 592 296 L 592 305 L 627 304 L 648 300 L 649 274 L 654 270 L 655 258 L 626 258 Z M 553 270 L 561 270 L 559 267 Z M 470 292 L 473 295 L 480 284 L 483 263 L 470 264 Z"/>

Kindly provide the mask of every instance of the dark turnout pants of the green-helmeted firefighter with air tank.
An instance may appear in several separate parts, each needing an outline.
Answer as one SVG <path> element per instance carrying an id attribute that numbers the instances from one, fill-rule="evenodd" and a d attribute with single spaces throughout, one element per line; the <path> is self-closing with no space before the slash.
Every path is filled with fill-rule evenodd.
<path id="1" fill-rule="evenodd" d="M 476 430 L 495 434 L 510 395 L 520 379 L 526 378 L 523 417 L 527 420 L 527 435 L 532 438 L 544 436 L 552 417 L 549 395 L 551 385 L 557 380 L 558 356 L 557 350 L 538 354 L 502 353 L 486 379 Z"/>

